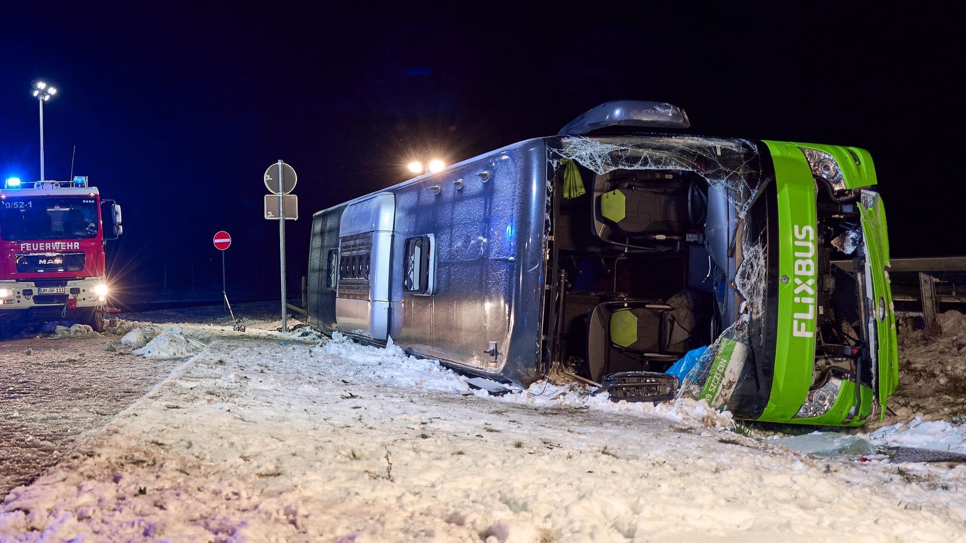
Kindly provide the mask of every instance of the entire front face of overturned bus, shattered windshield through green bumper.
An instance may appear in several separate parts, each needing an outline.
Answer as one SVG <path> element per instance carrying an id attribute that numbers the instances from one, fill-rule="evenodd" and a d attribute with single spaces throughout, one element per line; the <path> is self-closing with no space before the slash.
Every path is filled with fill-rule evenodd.
<path id="1" fill-rule="evenodd" d="M 548 154 L 548 367 L 746 420 L 884 412 L 895 316 L 867 151 L 598 130 Z"/>

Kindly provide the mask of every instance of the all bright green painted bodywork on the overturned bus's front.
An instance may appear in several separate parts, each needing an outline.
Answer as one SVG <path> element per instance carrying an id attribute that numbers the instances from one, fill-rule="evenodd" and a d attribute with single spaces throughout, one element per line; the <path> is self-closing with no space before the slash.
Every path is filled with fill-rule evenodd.
<path id="1" fill-rule="evenodd" d="M 817 273 L 816 251 L 810 251 L 809 247 L 796 245 L 794 242 L 804 241 L 802 234 L 810 226 L 810 241 L 817 249 L 816 186 L 809 162 L 799 147 L 816 149 L 834 157 L 842 172 L 842 183 L 847 189 L 860 189 L 876 184 L 872 157 L 866 150 L 857 147 L 777 141 L 764 143 L 772 155 L 778 192 L 779 277 L 788 279 L 787 282 L 780 280 L 778 285 L 778 324 L 772 389 L 768 404 L 758 419 L 816 425 L 861 425 L 871 412 L 873 396 L 876 396 L 884 416 L 886 401 L 895 392 L 898 384 L 895 314 L 889 275 L 886 272 L 889 265 L 888 230 L 881 198 L 874 191 L 864 190 L 861 201 L 857 203 L 866 245 L 867 274 L 870 279 L 867 283 L 871 284 L 874 299 L 870 312 L 875 319 L 872 328 L 877 341 L 877 364 L 873 372 L 876 390 L 862 386 L 862 404 L 854 416 L 852 414 L 856 404 L 856 385 L 846 381 L 842 383 L 838 397 L 827 413 L 811 418 L 794 418 L 807 400 L 811 386 L 817 320 L 817 300 L 814 300 L 811 311 L 808 311 L 807 304 L 795 300 L 796 297 L 801 299 L 807 296 L 801 289 L 800 293 L 795 293 L 796 288 L 801 285 L 795 281 L 795 272 L 800 272 L 800 280 L 806 280 L 806 275 L 801 272 L 808 270 L 809 266 Z M 811 264 L 805 263 L 806 260 Z M 818 276 L 813 276 L 817 282 Z M 880 308 L 884 309 L 884 317 L 881 319 Z M 794 333 L 796 329 L 797 335 Z M 811 332 L 810 336 L 803 337 L 805 332 Z"/>

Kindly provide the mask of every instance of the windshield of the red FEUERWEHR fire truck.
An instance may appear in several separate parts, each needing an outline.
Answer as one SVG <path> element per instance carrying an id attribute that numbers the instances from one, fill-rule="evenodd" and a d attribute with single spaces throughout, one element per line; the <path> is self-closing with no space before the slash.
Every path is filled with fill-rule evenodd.
<path id="1" fill-rule="evenodd" d="M 60 240 L 98 235 L 97 200 L 89 196 L 0 200 L 0 240 Z"/>

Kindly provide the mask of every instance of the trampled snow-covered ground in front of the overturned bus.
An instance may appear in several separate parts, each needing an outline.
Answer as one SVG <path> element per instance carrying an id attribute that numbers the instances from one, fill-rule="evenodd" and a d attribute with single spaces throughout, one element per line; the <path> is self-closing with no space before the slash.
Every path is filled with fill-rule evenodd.
<path id="1" fill-rule="evenodd" d="M 126 319 L 117 349 L 184 358 L 15 488 L 0 540 L 966 541 L 963 465 L 794 452 L 691 401 L 490 396 L 397 347 L 277 321 Z M 903 363 L 961 366 L 954 341 L 911 337 Z M 959 371 L 916 389 L 962 402 Z M 966 452 L 961 416 L 913 407 L 860 437 Z"/>

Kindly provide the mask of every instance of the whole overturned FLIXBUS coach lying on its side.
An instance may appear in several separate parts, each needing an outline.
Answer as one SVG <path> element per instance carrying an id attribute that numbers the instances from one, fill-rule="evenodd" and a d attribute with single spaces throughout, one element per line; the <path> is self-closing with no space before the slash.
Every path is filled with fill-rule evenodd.
<path id="1" fill-rule="evenodd" d="M 608 102 L 314 214 L 310 323 L 519 386 L 559 372 L 743 419 L 882 414 L 895 316 L 867 151 L 688 127 Z"/>

